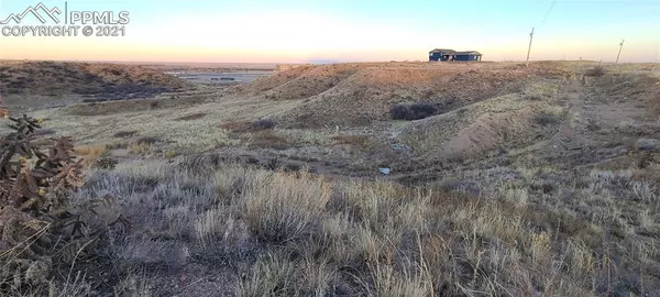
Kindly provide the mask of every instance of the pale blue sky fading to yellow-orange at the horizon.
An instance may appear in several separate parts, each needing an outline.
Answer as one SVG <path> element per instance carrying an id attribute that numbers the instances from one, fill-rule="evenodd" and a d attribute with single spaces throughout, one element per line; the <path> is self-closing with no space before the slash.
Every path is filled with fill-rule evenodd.
<path id="1" fill-rule="evenodd" d="M 47 8 L 65 8 L 65 1 L 42 2 Z M 427 61 L 433 48 L 452 48 L 479 51 L 484 61 L 524 61 L 535 28 L 532 61 L 614 62 L 625 40 L 620 62 L 660 63 L 660 0 L 66 2 L 69 12 L 108 11 L 117 18 L 127 11 L 130 21 L 123 25 L 125 35 L 6 36 L 0 31 L 0 59 Z M 0 21 L 36 4 L 31 0 L 0 0 Z M 28 15 L 20 24 L 4 26 L 23 25 L 42 23 Z"/>

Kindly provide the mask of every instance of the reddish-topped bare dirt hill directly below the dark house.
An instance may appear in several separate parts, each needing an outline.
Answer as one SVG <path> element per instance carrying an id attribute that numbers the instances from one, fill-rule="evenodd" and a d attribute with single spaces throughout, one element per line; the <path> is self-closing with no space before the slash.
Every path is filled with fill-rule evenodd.
<path id="1" fill-rule="evenodd" d="M 243 91 L 270 100 L 304 99 L 277 116 L 289 128 L 366 125 L 387 120 L 397 103 L 432 103 L 443 113 L 517 92 L 539 69 L 487 63 L 305 66 L 262 78 Z"/>

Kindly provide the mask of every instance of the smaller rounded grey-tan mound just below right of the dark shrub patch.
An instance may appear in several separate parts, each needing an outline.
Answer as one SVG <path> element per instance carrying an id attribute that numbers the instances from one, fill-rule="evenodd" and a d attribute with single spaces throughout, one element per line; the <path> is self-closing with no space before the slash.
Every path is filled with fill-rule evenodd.
<path id="1" fill-rule="evenodd" d="M 417 157 L 466 160 L 530 145 L 558 132 L 564 110 L 507 95 L 404 127 L 398 141 Z"/>

